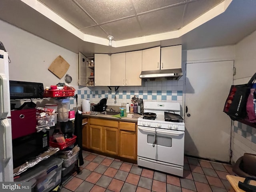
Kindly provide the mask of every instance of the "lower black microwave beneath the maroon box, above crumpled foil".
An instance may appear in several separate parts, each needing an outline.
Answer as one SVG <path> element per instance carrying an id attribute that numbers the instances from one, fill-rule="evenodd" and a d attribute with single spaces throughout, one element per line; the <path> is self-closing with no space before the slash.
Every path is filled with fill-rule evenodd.
<path id="1" fill-rule="evenodd" d="M 35 132 L 12 140 L 13 167 L 34 160 L 49 148 L 49 132 Z"/>

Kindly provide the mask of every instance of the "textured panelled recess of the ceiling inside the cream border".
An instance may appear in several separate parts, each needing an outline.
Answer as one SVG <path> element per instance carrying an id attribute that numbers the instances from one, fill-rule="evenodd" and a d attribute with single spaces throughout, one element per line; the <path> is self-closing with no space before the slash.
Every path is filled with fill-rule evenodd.
<path id="1" fill-rule="evenodd" d="M 224 0 L 40 0 L 84 34 L 124 40 L 183 28 Z"/>

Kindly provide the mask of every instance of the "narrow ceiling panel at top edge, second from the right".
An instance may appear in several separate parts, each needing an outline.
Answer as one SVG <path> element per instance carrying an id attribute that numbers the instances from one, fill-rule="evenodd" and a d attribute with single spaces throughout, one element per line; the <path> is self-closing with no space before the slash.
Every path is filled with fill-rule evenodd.
<path id="1" fill-rule="evenodd" d="M 186 0 L 132 0 L 136 13 L 142 13 L 169 5 L 186 2 Z"/>

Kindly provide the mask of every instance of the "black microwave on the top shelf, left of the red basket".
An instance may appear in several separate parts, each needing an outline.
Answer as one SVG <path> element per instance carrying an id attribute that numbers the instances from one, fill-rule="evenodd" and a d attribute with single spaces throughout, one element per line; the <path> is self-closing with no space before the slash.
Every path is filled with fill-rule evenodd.
<path id="1" fill-rule="evenodd" d="M 10 80 L 10 99 L 43 98 L 44 85 L 36 82 Z"/>

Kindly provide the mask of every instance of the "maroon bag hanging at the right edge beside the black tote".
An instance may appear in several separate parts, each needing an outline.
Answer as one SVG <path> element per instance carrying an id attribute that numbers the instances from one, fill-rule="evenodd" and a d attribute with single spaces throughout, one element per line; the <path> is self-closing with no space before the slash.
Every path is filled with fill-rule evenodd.
<path id="1" fill-rule="evenodd" d="M 256 89 L 251 88 L 250 94 L 247 99 L 246 103 L 246 112 L 247 112 L 247 120 L 249 122 L 256 122 L 256 108 L 255 108 L 255 101 L 256 101 Z"/>

